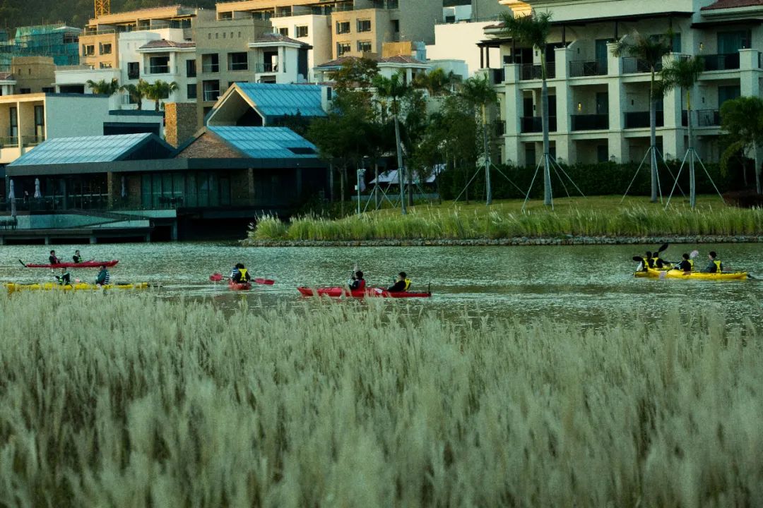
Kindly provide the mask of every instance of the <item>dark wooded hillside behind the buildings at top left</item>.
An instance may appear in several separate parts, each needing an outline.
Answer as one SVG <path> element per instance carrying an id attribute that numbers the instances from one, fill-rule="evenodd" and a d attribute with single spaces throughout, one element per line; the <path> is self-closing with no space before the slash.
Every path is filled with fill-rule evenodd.
<path id="1" fill-rule="evenodd" d="M 131 9 L 175 5 L 214 8 L 214 0 L 111 0 L 111 12 Z M 93 17 L 92 0 L 0 0 L 0 28 L 8 29 L 13 37 L 15 27 L 29 24 L 66 23 L 72 27 L 84 27 Z"/>

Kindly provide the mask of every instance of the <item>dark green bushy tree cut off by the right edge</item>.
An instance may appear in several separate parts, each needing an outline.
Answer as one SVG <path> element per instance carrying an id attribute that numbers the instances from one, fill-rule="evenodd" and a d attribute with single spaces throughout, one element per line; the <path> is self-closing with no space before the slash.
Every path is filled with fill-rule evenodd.
<path id="1" fill-rule="evenodd" d="M 729 145 L 721 155 L 721 168 L 726 171 L 729 158 L 752 149 L 755 160 L 755 190 L 761 193 L 758 147 L 763 143 L 763 100 L 760 97 L 739 97 L 720 107 L 720 126 L 726 131 Z"/>

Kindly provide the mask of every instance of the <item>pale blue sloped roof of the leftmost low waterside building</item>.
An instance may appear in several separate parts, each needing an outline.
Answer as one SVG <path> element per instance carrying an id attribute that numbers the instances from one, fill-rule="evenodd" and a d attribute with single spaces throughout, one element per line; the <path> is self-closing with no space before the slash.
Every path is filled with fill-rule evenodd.
<path id="1" fill-rule="evenodd" d="M 124 161 L 143 148 L 147 155 L 144 158 L 166 158 L 174 152 L 172 146 L 151 133 L 53 138 L 40 143 L 8 166 Z"/>

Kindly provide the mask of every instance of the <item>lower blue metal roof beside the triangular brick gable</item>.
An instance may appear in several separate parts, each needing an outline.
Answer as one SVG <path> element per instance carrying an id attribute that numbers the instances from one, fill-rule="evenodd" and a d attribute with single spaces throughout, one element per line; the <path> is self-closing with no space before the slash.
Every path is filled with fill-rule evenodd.
<path id="1" fill-rule="evenodd" d="M 251 158 L 316 158 L 315 145 L 286 127 L 207 127 Z"/>

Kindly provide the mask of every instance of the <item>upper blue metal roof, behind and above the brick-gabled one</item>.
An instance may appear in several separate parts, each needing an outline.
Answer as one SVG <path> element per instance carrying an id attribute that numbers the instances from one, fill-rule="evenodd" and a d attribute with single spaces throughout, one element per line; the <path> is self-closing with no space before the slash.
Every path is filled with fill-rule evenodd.
<path id="1" fill-rule="evenodd" d="M 257 110 L 266 117 L 300 113 L 303 117 L 325 117 L 320 87 L 316 85 L 276 85 L 275 83 L 237 83 Z"/>

